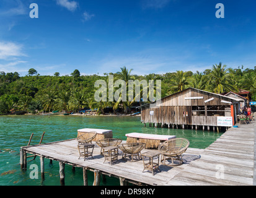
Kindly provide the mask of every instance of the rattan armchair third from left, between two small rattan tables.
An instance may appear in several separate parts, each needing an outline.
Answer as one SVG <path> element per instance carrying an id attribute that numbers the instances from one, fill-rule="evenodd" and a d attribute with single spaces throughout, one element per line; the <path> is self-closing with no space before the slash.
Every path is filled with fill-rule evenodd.
<path id="1" fill-rule="evenodd" d="M 122 158 L 126 159 L 126 155 L 131 156 L 131 161 L 133 161 L 134 155 L 136 157 L 136 160 L 140 160 L 141 150 L 143 150 L 145 147 L 146 147 L 145 143 L 126 143 L 126 144 L 119 145 L 119 149 L 123 152 Z"/>

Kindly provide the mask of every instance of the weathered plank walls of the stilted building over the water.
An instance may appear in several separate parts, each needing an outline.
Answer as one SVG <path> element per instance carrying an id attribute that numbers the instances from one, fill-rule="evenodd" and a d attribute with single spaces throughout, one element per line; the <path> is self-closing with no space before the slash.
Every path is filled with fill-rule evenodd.
<path id="1" fill-rule="evenodd" d="M 193 99 L 192 97 L 201 98 Z M 209 99 L 210 101 L 207 101 Z M 212 116 L 212 114 L 209 116 L 209 114 L 213 111 L 208 113 L 207 106 L 222 106 L 225 108 L 225 116 L 231 116 L 230 106 L 232 102 L 234 102 L 234 100 L 231 98 L 188 88 L 182 92 L 162 98 L 161 105 L 156 108 L 151 108 L 150 105 L 141 107 L 141 121 L 143 123 L 155 124 L 162 123 L 195 126 L 217 126 L 218 117 Z M 193 115 L 193 106 L 203 106 L 203 108 L 206 110 L 205 113 L 203 112 L 204 115 Z"/>

